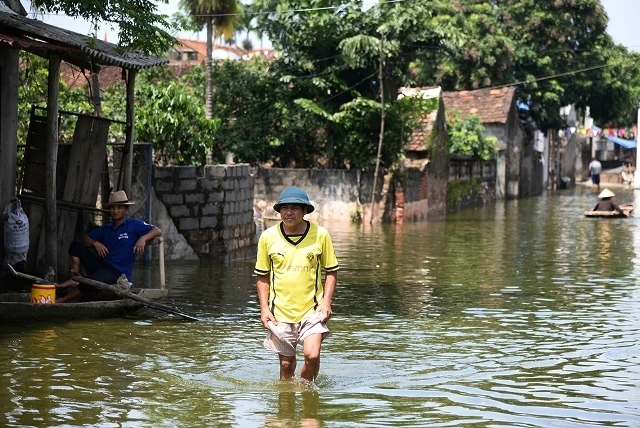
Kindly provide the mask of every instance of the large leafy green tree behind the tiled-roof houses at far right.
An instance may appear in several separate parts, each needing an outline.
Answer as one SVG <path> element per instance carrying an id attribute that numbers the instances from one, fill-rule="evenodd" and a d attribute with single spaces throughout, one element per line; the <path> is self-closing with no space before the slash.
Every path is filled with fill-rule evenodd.
<path id="1" fill-rule="evenodd" d="M 590 105 L 601 123 L 628 111 L 640 65 L 606 33 L 599 0 L 417 1 L 430 3 L 437 20 L 463 35 L 460 46 L 414 60 L 419 85 L 516 84 L 519 102 L 541 129 L 563 126 L 558 111 L 567 104 Z"/>

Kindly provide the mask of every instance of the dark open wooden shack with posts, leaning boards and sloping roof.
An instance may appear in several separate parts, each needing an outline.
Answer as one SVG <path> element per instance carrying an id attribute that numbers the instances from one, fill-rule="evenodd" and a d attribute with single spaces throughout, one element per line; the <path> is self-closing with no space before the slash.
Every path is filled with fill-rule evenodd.
<path id="1" fill-rule="evenodd" d="M 0 206 L 16 196 L 16 145 L 18 56 L 23 50 L 49 61 L 47 108 L 34 117 L 29 132 L 27 168 L 22 188 L 30 190 L 30 255 L 37 260 L 43 253 L 40 266 L 31 264 L 31 270 L 43 271 L 53 266 L 58 272 L 66 269 L 66 245 L 77 234 L 75 225 L 78 212 L 84 207 L 95 208 L 99 177 L 102 174 L 106 133 L 109 121 L 88 115 L 79 115 L 73 143 L 68 153 L 59 156 L 58 145 L 58 92 L 60 64 L 68 62 L 83 70 L 99 72 L 101 66 L 122 68 L 127 84 L 127 121 L 124 146 L 124 174 L 121 188 L 131 189 L 133 165 L 134 99 L 136 72 L 167 63 L 167 60 L 137 52 L 123 52 L 117 45 L 45 24 L 24 16 L 19 2 L 0 0 Z M 37 129 L 36 129 L 37 128 Z M 65 148 L 67 149 L 67 148 Z M 64 158 L 64 159 L 62 159 Z M 30 170 L 28 170 L 30 168 Z M 25 199 L 28 198 L 25 196 Z M 76 207 L 60 210 L 60 207 Z M 0 238 L 1 238 L 0 228 Z M 44 233 L 42 233 L 44 231 Z M 64 248 L 62 248 L 65 246 Z M 60 257 L 59 257 L 60 253 Z M 0 256 L 2 248 L 0 246 Z M 3 257 L 2 257 L 3 259 Z M 64 273 L 64 272 L 62 272 Z"/>

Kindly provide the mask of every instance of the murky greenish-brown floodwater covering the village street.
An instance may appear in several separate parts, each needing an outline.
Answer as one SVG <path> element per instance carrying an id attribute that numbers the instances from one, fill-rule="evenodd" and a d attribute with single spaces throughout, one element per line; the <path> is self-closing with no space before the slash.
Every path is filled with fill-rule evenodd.
<path id="1" fill-rule="evenodd" d="M 595 201 L 326 225 L 342 269 L 315 384 L 277 380 L 253 261 L 168 267 L 171 301 L 202 322 L 0 326 L 0 425 L 640 426 L 640 214 L 583 217 Z"/>

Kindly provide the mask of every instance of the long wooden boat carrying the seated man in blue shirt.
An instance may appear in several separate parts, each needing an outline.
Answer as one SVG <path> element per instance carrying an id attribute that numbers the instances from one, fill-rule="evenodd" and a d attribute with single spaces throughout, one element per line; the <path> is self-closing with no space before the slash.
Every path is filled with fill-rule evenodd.
<path id="1" fill-rule="evenodd" d="M 131 292 L 156 301 L 167 295 L 166 288 L 132 289 Z M 81 303 L 33 304 L 30 293 L 0 294 L 0 320 L 72 320 L 117 318 L 134 313 L 146 306 L 131 299 L 104 300 Z"/>

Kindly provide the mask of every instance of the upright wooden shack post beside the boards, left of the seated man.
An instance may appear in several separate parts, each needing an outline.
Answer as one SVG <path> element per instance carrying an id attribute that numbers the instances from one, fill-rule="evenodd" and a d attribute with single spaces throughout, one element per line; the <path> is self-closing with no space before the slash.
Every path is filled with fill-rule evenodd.
<path id="1" fill-rule="evenodd" d="M 60 57 L 49 56 L 47 90 L 47 154 L 45 176 L 45 264 L 58 266 L 58 216 L 56 207 L 56 170 L 58 163 L 58 95 L 60 92 Z"/>

